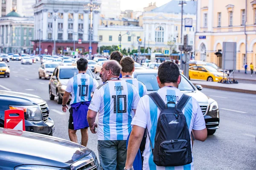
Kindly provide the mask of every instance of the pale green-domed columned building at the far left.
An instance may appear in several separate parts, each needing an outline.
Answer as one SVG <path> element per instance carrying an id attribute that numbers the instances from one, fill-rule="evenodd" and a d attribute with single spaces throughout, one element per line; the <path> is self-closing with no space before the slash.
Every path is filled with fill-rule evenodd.
<path id="1" fill-rule="evenodd" d="M 34 18 L 12 11 L 0 17 L 0 53 L 33 52 Z"/>

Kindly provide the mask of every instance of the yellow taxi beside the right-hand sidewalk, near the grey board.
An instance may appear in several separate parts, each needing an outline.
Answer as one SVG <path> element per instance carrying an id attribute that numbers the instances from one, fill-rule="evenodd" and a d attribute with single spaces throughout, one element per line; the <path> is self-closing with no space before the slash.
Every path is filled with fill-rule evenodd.
<path id="1" fill-rule="evenodd" d="M 224 75 L 226 78 L 227 75 Z M 206 80 L 208 82 L 218 82 L 223 79 L 223 73 L 209 65 L 194 65 L 189 67 L 189 79 Z"/>

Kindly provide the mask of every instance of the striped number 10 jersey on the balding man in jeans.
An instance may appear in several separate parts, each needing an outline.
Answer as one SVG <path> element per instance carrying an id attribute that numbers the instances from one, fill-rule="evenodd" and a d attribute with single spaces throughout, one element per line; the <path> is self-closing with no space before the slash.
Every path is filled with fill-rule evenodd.
<path id="1" fill-rule="evenodd" d="M 126 140 L 131 132 L 131 111 L 140 100 L 134 85 L 123 80 L 107 81 L 93 94 L 89 109 L 99 111 L 98 140 Z"/>

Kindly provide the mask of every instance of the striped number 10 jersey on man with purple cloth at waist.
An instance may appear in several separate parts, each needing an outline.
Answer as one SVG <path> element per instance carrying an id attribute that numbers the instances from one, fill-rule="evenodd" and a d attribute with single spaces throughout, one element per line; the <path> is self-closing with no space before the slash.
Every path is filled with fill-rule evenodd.
<path id="1" fill-rule="evenodd" d="M 88 74 L 79 73 L 76 76 L 70 78 L 67 82 L 66 91 L 71 93 L 71 102 L 88 102 L 91 101 L 91 93 L 98 87 L 98 82 Z"/>

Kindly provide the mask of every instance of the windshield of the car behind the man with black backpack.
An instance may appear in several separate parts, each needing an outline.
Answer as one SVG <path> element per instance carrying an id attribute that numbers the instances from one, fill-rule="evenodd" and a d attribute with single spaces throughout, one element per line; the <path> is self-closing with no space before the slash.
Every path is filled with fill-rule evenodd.
<path id="1" fill-rule="evenodd" d="M 145 84 L 148 91 L 157 91 L 159 89 L 157 74 L 137 74 L 137 79 Z M 192 85 L 183 76 L 181 76 L 179 89 L 180 91 L 194 91 Z"/>

